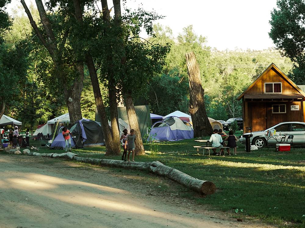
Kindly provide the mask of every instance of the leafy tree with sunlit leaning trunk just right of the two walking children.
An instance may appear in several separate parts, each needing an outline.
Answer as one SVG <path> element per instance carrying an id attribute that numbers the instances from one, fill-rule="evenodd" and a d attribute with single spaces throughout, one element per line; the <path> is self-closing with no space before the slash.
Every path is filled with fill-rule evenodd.
<path id="1" fill-rule="evenodd" d="M 169 44 L 152 44 L 139 36 L 141 27 L 152 35 L 152 23 L 162 16 L 155 12 L 146 12 L 141 8 L 135 12 L 126 8 L 126 13 L 122 15 L 120 0 L 113 0 L 113 6 L 114 27 L 119 31 L 115 38 L 121 42 L 118 51 L 121 57 L 117 59 L 119 63 L 117 72 L 120 75 L 119 88 L 123 94 L 129 125 L 135 129 L 137 145 L 135 153 L 143 154 L 144 147 L 135 113 L 134 99 L 144 93 L 148 86 L 148 79 L 162 71 Z"/>

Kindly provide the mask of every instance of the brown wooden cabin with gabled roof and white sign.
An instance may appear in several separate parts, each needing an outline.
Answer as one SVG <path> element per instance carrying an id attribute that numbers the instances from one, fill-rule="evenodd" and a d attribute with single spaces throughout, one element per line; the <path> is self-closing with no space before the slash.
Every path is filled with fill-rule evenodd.
<path id="1" fill-rule="evenodd" d="M 251 126 L 261 131 L 280 122 L 305 122 L 305 93 L 300 87 L 272 63 L 237 98 L 242 99 L 244 132 Z"/>

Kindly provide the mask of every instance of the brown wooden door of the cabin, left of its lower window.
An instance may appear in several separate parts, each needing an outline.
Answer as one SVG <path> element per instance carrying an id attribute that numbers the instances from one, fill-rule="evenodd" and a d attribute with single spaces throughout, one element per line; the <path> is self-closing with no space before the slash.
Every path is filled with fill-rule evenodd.
<path id="1" fill-rule="evenodd" d="M 252 131 L 267 129 L 267 105 L 264 102 L 251 102 Z"/>

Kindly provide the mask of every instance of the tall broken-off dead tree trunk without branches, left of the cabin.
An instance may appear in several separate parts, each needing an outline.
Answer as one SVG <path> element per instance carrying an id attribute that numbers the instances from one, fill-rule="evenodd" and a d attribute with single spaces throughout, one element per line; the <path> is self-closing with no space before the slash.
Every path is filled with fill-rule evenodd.
<path id="1" fill-rule="evenodd" d="M 210 135 L 213 130 L 206 115 L 204 105 L 204 89 L 201 85 L 199 65 L 194 52 L 186 53 L 186 65 L 188 67 L 188 81 L 190 87 L 189 113 L 192 117 L 194 137 Z"/>

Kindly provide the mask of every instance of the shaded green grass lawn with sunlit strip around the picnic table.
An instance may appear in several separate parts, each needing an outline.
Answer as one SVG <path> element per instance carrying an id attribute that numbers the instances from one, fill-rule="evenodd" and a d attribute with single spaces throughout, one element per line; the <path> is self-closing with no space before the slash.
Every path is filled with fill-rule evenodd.
<path id="1" fill-rule="evenodd" d="M 40 142 L 34 142 L 38 145 Z M 185 197 L 208 204 L 215 210 L 249 215 L 265 222 L 291 227 L 305 227 L 305 148 L 275 152 L 274 147 L 250 153 L 238 143 L 237 155 L 202 156 L 192 147 L 201 145 L 192 140 L 157 143 L 160 153 L 136 156 L 135 161 L 160 161 L 192 177 L 213 181 L 217 192 L 205 198 L 185 193 Z M 145 144 L 145 150 L 149 145 Z M 42 149 L 40 153 L 63 151 Z M 75 149 L 80 157 L 105 157 L 105 147 Z M 242 209 L 242 213 L 241 213 Z M 242 214 L 242 215 L 241 215 Z"/>

